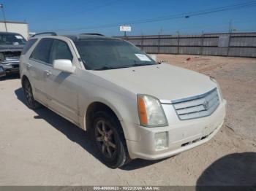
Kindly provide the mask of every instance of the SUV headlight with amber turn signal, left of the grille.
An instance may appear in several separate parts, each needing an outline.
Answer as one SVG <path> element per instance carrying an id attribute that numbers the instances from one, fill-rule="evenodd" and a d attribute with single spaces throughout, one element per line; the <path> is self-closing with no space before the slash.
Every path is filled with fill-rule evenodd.
<path id="1" fill-rule="evenodd" d="M 167 126 L 165 112 L 159 99 L 150 95 L 138 95 L 138 114 L 140 125 L 146 127 Z"/>

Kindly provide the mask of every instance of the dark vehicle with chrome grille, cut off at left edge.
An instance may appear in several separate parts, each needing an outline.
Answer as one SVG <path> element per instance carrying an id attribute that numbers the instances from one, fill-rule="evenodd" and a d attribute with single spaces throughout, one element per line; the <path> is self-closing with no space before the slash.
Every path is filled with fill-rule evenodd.
<path id="1" fill-rule="evenodd" d="M 0 77 L 18 73 L 20 54 L 26 39 L 17 33 L 0 32 Z"/>

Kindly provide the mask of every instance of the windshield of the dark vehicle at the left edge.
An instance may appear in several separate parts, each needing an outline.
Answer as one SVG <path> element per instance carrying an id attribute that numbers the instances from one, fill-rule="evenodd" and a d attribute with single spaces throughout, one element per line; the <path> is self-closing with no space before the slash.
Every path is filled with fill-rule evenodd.
<path id="1" fill-rule="evenodd" d="M 20 34 L 0 34 L 0 45 L 25 44 L 26 40 Z"/>

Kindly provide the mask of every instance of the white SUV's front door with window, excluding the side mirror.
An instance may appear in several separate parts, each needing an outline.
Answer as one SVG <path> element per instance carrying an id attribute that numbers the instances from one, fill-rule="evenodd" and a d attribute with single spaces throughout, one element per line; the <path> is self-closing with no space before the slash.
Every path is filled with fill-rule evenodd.
<path id="1" fill-rule="evenodd" d="M 57 59 L 73 61 L 68 42 L 54 39 L 50 50 L 50 65 Z M 45 88 L 48 96 L 48 106 L 78 124 L 78 79 L 74 74 L 59 71 L 51 67 L 50 74 L 46 78 Z"/>

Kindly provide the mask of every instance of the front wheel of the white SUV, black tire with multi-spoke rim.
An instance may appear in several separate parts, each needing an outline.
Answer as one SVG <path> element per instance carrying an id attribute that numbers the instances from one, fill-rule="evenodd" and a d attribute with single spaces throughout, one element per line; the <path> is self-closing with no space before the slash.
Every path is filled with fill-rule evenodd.
<path id="1" fill-rule="evenodd" d="M 94 113 L 90 133 L 102 163 L 110 168 L 118 168 L 129 163 L 124 133 L 114 114 L 105 111 Z"/>

